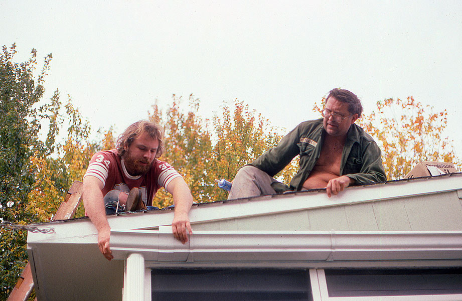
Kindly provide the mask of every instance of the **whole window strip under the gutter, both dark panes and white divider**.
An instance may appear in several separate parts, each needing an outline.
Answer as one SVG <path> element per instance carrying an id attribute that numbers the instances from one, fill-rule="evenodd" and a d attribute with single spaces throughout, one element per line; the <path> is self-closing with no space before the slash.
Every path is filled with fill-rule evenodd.
<path id="1" fill-rule="evenodd" d="M 152 300 L 462 299 L 462 268 L 171 268 L 151 269 L 150 282 Z"/>

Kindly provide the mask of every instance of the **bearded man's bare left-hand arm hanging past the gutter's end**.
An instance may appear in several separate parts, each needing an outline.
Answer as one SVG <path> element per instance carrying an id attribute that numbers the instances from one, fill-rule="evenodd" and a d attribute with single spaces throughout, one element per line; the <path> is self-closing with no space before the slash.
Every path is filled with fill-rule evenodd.
<path id="1" fill-rule="evenodd" d="M 106 218 L 102 189 L 103 183 L 99 179 L 93 176 L 83 178 L 82 200 L 85 212 L 98 230 L 99 250 L 107 260 L 111 260 L 114 258 L 109 247 L 111 228 Z"/>

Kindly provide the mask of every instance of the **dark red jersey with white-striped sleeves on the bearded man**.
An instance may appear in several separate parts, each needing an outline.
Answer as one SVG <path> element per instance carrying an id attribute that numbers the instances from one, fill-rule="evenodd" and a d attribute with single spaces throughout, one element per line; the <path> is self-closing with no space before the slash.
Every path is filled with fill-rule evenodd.
<path id="1" fill-rule="evenodd" d="M 154 159 L 145 175 L 130 176 L 116 149 L 102 150 L 93 155 L 83 177 L 86 176 L 96 177 L 103 183 L 103 195 L 114 189 L 128 193 L 130 189 L 137 187 L 146 206 L 152 205 L 152 197 L 159 188 L 167 189 L 173 179 L 181 177 L 170 164 L 158 159 Z"/>

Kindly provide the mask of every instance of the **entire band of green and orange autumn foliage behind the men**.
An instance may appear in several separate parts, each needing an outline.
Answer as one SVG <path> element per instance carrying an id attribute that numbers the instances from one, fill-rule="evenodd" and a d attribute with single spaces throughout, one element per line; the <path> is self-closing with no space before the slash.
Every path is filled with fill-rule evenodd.
<path id="1" fill-rule="evenodd" d="M 44 81 L 51 54 L 37 76 L 37 52 L 30 60 L 14 63 L 16 45 L 0 54 L 0 220 L 16 224 L 45 222 L 53 217 L 73 181 L 82 180 L 91 156 L 115 147 L 112 128 L 95 133 L 69 98 L 63 106 L 59 91 L 43 100 Z M 325 99 L 314 104 L 321 112 Z M 239 100 L 224 103 L 211 119 L 199 114 L 200 100 L 173 95 L 171 104 L 154 104 L 146 118 L 166 129 L 170 163 L 189 184 L 196 202 L 227 198 L 215 179 L 232 180 L 238 169 L 276 145 L 285 129 L 250 110 Z M 357 121 L 377 141 L 389 180 L 402 178 L 420 161 L 453 162 L 460 166 L 451 141 L 443 136 L 447 113 L 432 112 L 412 97 L 385 99 Z M 40 135 L 43 125 L 48 132 Z M 63 133 L 64 131 L 64 133 Z M 61 136 L 64 138 L 59 138 Z M 298 158 L 278 175 L 288 184 L 298 169 Z M 160 190 L 153 200 L 158 207 L 173 203 Z M 83 216 L 79 208 L 77 216 Z M 0 299 L 5 299 L 27 262 L 26 232 L 0 228 Z"/>

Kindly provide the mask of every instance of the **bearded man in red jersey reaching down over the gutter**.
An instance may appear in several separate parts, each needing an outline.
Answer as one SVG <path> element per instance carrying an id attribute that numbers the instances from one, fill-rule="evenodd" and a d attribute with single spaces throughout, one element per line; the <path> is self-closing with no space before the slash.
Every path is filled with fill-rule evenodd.
<path id="1" fill-rule="evenodd" d="M 83 177 L 85 213 L 98 230 L 98 247 L 108 260 L 110 227 L 106 214 L 149 209 L 163 187 L 173 195 L 175 216 L 172 231 L 182 243 L 192 234 L 188 213 L 193 197 L 183 177 L 158 158 L 165 150 L 164 129 L 140 120 L 125 129 L 117 148 L 96 153 Z"/>

